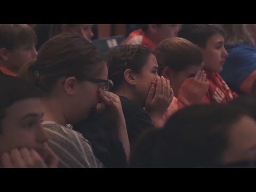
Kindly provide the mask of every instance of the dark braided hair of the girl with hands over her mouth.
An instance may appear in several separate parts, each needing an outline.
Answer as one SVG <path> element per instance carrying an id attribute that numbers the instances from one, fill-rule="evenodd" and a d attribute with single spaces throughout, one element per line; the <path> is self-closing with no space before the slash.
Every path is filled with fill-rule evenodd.
<path id="1" fill-rule="evenodd" d="M 131 69 L 140 73 L 152 51 L 143 45 L 121 45 L 111 49 L 106 55 L 108 78 L 114 82 L 113 91 L 117 90 L 124 80 L 124 71 Z"/>

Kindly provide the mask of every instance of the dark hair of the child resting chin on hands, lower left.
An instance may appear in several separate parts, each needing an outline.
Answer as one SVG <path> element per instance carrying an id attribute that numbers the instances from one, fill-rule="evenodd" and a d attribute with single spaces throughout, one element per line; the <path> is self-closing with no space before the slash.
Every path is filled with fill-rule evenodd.
<path id="1" fill-rule="evenodd" d="M 39 98 L 43 95 L 42 91 L 35 86 L 7 75 L 0 76 L 0 87 L 0 129 L 6 108 L 10 107 L 14 102 L 29 98 Z"/>

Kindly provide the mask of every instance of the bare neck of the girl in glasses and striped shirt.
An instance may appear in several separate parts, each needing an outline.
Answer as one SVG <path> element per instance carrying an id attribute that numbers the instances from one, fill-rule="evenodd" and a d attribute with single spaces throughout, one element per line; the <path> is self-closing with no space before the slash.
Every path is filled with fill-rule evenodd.
<path id="1" fill-rule="evenodd" d="M 66 126 L 67 119 L 63 114 L 64 110 L 61 108 L 59 98 L 43 98 L 41 102 L 44 110 L 44 121 L 53 121 Z"/>

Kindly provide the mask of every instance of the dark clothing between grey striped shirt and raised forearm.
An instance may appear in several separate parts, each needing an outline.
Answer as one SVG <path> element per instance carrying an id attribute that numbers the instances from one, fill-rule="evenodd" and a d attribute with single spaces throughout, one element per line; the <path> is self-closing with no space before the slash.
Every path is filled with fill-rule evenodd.
<path id="1" fill-rule="evenodd" d="M 108 168 L 127 167 L 126 154 L 121 141 L 113 133 L 113 124 L 96 114 L 73 126 L 92 144 L 94 155 Z"/>

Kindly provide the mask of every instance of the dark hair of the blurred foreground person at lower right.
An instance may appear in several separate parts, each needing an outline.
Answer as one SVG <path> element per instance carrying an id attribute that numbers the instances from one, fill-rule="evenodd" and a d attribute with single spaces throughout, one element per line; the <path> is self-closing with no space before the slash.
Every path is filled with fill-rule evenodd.
<path id="1" fill-rule="evenodd" d="M 230 127 L 247 112 L 230 105 L 198 105 L 179 110 L 154 136 L 151 167 L 212 167 L 221 164 Z M 147 138 L 144 138 L 147 140 Z M 142 142 L 143 143 L 143 142 Z M 134 153 L 143 153 L 142 147 Z M 140 157 L 143 158 L 143 157 Z M 133 161 L 140 161 L 136 159 Z"/>

